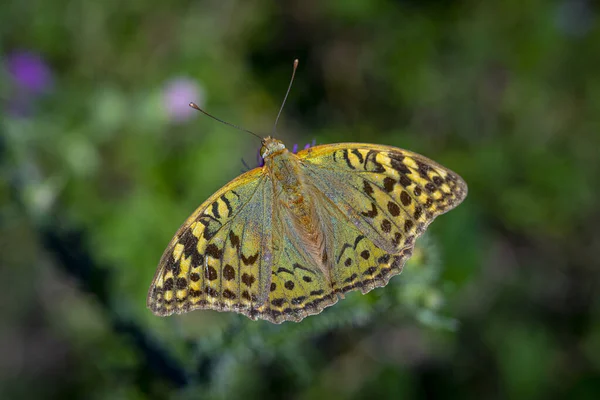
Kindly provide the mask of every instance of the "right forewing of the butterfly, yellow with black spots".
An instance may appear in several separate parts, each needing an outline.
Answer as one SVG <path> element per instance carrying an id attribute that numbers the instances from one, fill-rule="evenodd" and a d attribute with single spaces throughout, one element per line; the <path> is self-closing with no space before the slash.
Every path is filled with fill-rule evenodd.
<path id="1" fill-rule="evenodd" d="M 395 147 L 344 143 L 298 156 L 311 183 L 391 255 L 412 248 L 436 216 L 467 195 L 457 174 Z"/>

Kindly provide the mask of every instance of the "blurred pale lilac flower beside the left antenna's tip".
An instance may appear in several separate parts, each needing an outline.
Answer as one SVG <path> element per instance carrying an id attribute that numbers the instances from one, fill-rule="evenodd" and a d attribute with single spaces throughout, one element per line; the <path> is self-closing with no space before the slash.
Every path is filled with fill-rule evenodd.
<path id="1" fill-rule="evenodd" d="M 198 113 L 189 106 L 190 102 L 200 107 L 204 103 L 204 93 L 200 85 L 195 80 L 185 77 L 168 81 L 162 97 L 167 116 L 173 122 L 184 122 Z"/>

